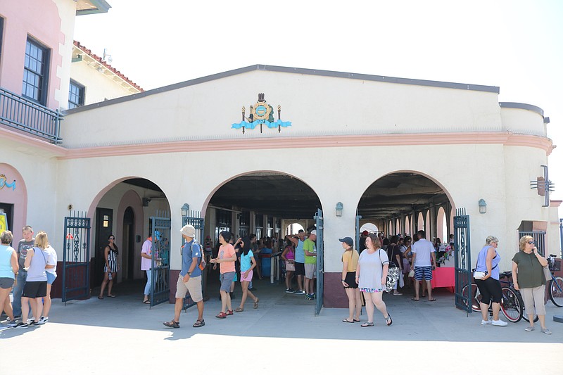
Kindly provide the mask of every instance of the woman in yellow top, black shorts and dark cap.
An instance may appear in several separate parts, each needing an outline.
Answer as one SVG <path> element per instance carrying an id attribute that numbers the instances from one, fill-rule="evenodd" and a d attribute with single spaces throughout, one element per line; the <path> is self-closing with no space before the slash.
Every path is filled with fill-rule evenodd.
<path id="1" fill-rule="evenodd" d="M 362 312 L 362 298 L 356 283 L 355 274 L 358 269 L 358 251 L 354 250 L 354 241 L 351 237 L 339 239 L 344 253 L 342 254 L 342 286 L 348 297 L 348 317 L 342 319 L 344 323 L 360 322 Z"/>

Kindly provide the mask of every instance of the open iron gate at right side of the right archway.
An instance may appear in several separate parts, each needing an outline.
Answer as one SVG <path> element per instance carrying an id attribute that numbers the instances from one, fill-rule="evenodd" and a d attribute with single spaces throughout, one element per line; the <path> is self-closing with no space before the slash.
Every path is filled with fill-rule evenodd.
<path id="1" fill-rule="evenodd" d="M 471 313 L 472 288 L 464 288 L 472 283 L 471 271 L 471 241 L 469 231 L 469 215 L 465 209 L 456 210 L 453 217 L 454 230 L 454 263 L 455 263 L 455 307 Z"/>

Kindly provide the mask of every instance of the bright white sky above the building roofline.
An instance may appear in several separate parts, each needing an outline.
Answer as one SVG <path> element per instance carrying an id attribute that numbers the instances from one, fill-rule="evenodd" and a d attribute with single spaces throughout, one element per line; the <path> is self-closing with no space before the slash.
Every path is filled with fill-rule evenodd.
<path id="1" fill-rule="evenodd" d="M 108 3 L 77 17 L 75 40 L 144 89 L 256 64 L 500 87 L 499 101 L 550 117 L 563 200 L 563 1 Z"/>

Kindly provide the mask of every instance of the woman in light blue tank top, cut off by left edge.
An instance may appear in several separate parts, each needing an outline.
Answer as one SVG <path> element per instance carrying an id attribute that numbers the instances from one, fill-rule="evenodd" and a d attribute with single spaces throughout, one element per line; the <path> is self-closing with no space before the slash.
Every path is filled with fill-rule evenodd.
<path id="1" fill-rule="evenodd" d="M 8 315 L 8 326 L 15 326 L 12 304 L 10 303 L 10 291 L 15 275 L 18 274 L 18 269 L 20 269 L 18 255 L 10 246 L 12 239 L 11 231 L 3 231 L 0 235 L 0 312 L 4 310 Z"/>

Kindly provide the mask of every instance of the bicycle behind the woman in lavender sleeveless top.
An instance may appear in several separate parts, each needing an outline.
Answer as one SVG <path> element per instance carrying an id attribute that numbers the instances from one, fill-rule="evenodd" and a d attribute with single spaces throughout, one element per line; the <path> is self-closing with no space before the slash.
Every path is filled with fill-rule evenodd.
<path id="1" fill-rule="evenodd" d="M 499 279 L 508 279 L 512 275 L 511 271 L 501 272 Z M 562 280 L 563 281 L 563 280 Z M 512 281 L 502 281 L 500 280 L 500 284 L 505 284 L 502 286 L 502 300 L 500 300 L 500 311 L 506 317 L 509 322 L 517 323 L 523 317 L 527 321 L 527 317 L 524 314 L 524 301 L 520 295 L 520 292 L 514 289 L 512 285 Z M 462 295 L 467 295 L 467 288 L 468 286 L 464 286 L 462 288 Z M 481 293 L 479 292 L 479 288 L 477 288 L 477 284 L 471 284 L 471 308 L 474 312 L 481 312 L 481 305 L 479 304 L 481 301 Z M 492 314 L 493 310 L 491 308 L 491 303 L 488 307 L 489 312 Z M 534 322 L 537 322 L 538 316 L 536 315 L 536 319 Z"/>

